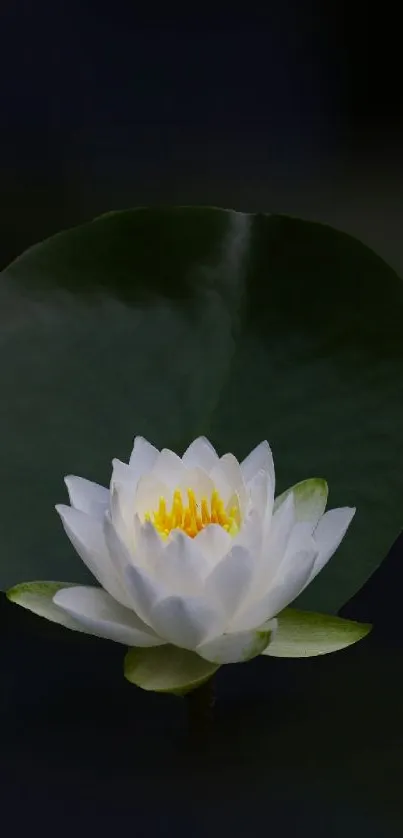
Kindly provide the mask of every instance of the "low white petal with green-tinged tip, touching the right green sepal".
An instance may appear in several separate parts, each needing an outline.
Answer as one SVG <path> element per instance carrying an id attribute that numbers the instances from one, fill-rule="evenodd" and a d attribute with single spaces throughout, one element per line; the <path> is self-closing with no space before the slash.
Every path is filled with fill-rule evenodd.
<path id="1" fill-rule="evenodd" d="M 277 628 L 277 620 L 270 620 L 259 629 L 222 634 L 197 647 L 200 657 L 212 663 L 241 663 L 262 654 Z"/>

